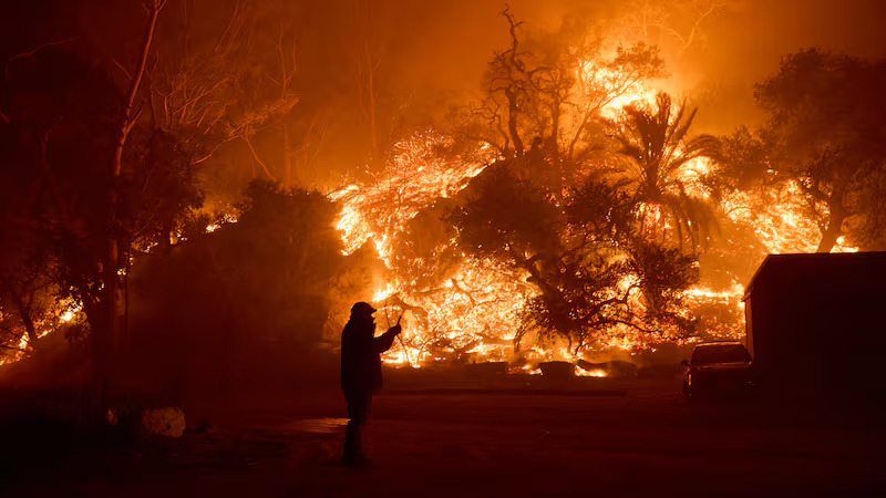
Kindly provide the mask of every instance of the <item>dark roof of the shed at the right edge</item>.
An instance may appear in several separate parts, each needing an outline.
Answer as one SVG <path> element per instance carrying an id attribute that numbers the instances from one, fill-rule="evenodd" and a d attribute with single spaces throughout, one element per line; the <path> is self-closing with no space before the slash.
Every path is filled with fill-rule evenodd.
<path id="1" fill-rule="evenodd" d="M 790 276 L 796 286 L 826 278 L 874 282 L 886 279 L 886 251 L 769 255 L 748 283 L 742 301 L 751 297 L 755 286 L 775 274 Z M 878 283 L 886 284 L 884 280 Z"/>

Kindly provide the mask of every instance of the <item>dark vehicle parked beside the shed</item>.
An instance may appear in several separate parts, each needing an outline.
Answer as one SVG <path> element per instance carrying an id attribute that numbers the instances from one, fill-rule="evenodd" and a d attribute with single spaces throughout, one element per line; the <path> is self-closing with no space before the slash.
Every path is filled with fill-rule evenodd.
<path id="1" fill-rule="evenodd" d="M 752 360 L 740 342 L 699 344 L 687 367 L 683 395 L 692 398 L 749 394 L 754 387 Z"/>

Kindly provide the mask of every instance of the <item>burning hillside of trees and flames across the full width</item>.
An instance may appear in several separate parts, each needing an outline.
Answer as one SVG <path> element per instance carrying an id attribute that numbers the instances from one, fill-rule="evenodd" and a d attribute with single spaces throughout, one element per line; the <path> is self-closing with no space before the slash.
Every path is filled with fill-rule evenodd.
<path id="1" fill-rule="evenodd" d="M 113 90 L 114 77 L 74 60 L 65 68 L 76 84 L 41 90 L 51 94 L 41 101 L 21 89 L 54 80 L 53 64 L 66 55 L 61 49 L 39 58 L 23 51 L 10 60 L 23 65 L 9 68 L 3 102 L 10 105 L 0 108 L 9 132 L 4 144 L 14 145 L 3 159 L 23 166 L 2 185 L 31 183 L 29 189 L 9 189 L 4 199 L 11 200 L 3 204 L 21 212 L 10 216 L 13 236 L 0 238 L 10 256 L 0 268 L 8 353 L 0 361 L 22 357 L 73 313 L 84 328 L 105 334 L 99 350 L 111 347 L 128 320 L 130 273 L 148 253 L 208 234 L 225 239 L 225 225 L 245 208 L 206 216 L 199 206 L 204 195 L 216 196 L 216 207 L 235 204 L 217 190 L 236 190 L 244 178 L 278 185 L 247 193 L 258 196 L 251 200 L 272 200 L 257 216 L 260 222 L 244 229 L 255 238 L 256 257 L 272 260 L 260 250 L 267 245 L 295 258 L 277 263 L 286 268 L 278 288 L 262 291 L 258 282 L 254 293 L 312 303 L 298 313 L 280 312 L 262 330 L 288 338 L 301 320 L 312 331 L 326 330 L 329 342 L 340 310 L 350 304 L 344 301 L 371 298 L 380 325 L 402 314 L 406 330 L 385 361 L 413 366 L 508 361 L 529 367 L 659 342 L 736 339 L 743 333 L 743 284 L 766 253 L 879 247 L 886 175 L 877 145 L 882 123 L 868 110 L 879 102 L 869 84 L 880 81 L 879 66 L 817 50 L 790 55 L 780 73 L 758 85 L 764 125 L 704 135 L 696 124 L 696 105 L 704 101 L 693 101 L 692 89 L 684 89 L 688 96 L 674 92 L 688 76 L 671 71 L 686 70 L 680 58 L 702 42 L 699 30 L 729 9 L 677 2 L 689 18 L 670 25 L 668 14 L 641 3 L 631 3 L 619 22 L 573 19 L 554 29 L 524 22 L 505 8 L 494 18 L 503 22 L 504 38 L 483 54 L 480 92 L 432 112 L 409 92 L 381 90 L 394 87 L 396 70 L 379 65 L 383 49 L 369 29 L 371 13 L 363 11 L 353 27 L 360 46 L 351 61 L 353 93 L 337 95 L 341 101 L 334 103 L 322 100 L 332 98 L 326 80 L 307 83 L 311 75 L 301 65 L 319 64 L 323 77 L 351 77 L 330 74 L 334 58 L 318 52 L 302 60 L 295 25 L 280 24 L 279 37 L 271 38 L 262 28 L 271 19 L 297 18 L 287 10 L 291 6 L 235 8 L 209 43 L 212 56 L 161 59 L 150 87 L 135 80 L 126 92 Z M 165 2 L 151 6 L 157 21 Z M 174 45 L 155 40 L 153 29 L 143 40 L 145 55 Z M 239 44 L 238 37 L 246 41 Z M 148 59 L 140 60 L 140 77 Z M 858 74 L 868 83 L 853 80 Z M 193 98 L 185 98 L 192 91 Z M 128 107 L 116 108 L 117 96 Z M 90 102 L 91 112 L 106 118 L 74 104 L 22 111 L 32 101 Z M 150 113 L 137 111 L 141 101 Z M 818 102 L 827 105 L 808 105 Z M 336 110 L 350 106 L 354 118 L 336 125 Z M 121 112 L 123 122 L 107 117 Z M 33 116 L 45 123 L 32 123 Z M 105 169 L 90 165 L 104 164 L 95 151 L 115 143 L 121 131 L 124 144 L 111 154 L 119 163 L 115 178 L 107 180 Z M 328 147 L 332 134 L 346 138 Z M 54 143 L 93 148 L 49 154 L 45 147 Z M 363 180 L 336 185 L 326 197 L 308 195 L 301 186 L 328 188 L 328 178 L 341 177 L 324 164 L 348 164 L 343 176 L 353 177 L 353 155 L 320 160 L 321 151 L 349 147 L 371 158 Z M 82 157 L 84 164 L 72 166 L 63 157 Z M 34 164 L 41 167 L 29 166 Z M 204 164 L 224 173 L 203 173 L 198 185 L 197 166 Z M 89 174 L 85 166 L 92 167 Z M 90 185 L 101 187 L 90 191 Z M 53 201 L 39 208 L 34 193 L 41 189 Z M 291 229 L 261 231 L 279 227 L 268 222 L 275 209 L 284 209 Z M 324 216 L 333 210 L 338 239 L 326 227 Z M 339 241 L 322 268 L 306 260 Z M 339 273 L 360 264 L 372 267 L 365 271 L 371 281 L 342 283 Z M 276 277 L 266 270 L 231 264 L 222 279 Z M 317 281 L 303 283 L 300 274 Z"/>

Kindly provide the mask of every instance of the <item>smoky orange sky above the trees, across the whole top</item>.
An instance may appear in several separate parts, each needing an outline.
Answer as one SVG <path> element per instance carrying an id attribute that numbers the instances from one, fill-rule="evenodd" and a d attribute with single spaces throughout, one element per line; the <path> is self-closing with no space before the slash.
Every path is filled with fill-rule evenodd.
<path id="1" fill-rule="evenodd" d="M 671 73 L 660 87 L 699 106 L 698 133 L 729 133 L 755 124 L 760 115 L 753 85 L 773 74 L 787 53 L 818 46 L 872 59 L 886 54 L 882 30 L 886 4 L 877 0 L 513 0 L 508 4 L 526 34 L 552 32 L 564 20 L 580 20 L 616 42 L 659 46 Z M 674 33 L 683 41 L 690 38 L 699 19 L 693 9 L 711 4 L 718 9 L 699 22 L 691 43 L 681 46 Z M 260 19 L 255 32 L 235 37 L 237 43 L 249 44 L 248 58 L 276 58 L 274 33 L 281 27 L 295 33 L 299 60 L 292 91 L 299 101 L 287 120 L 297 128 L 296 136 L 310 126 L 324 133 L 322 141 L 315 138 L 317 149 L 310 152 L 311 164 L 299 180 L 331 189 L 344 176 L 359 178 L 373 148 L 375 156 L 383 155 L 399 138 L 439 124 L 452 106 L 482 95 L 486 63 L 508 43 L 506 22 L 498 14 L 504 8 L 499 0 L 171 1 L 161 15 L 157 61 L 163 65 L 182 56 L 183 46 L 192 56 L 210 53 L 235 11 Z M 0 39 L 6 55 L 63 40 L 65 50 L 85 53 L 96 63 L 113 60 L 124 66 L 131 65 L 144 21 L 137 2 L 100 0 L 78 6 L 18 4 L 7 20 L 14 22 Z M 367 43 L 381 110 L 374 147 L 360 110 Z M 123 75 L 115 77 L 122 81 Z M 261 135 L 254 144 L 257 153 L 264 154 L 269 168 L 279 170 L 280 134 Z M 254 159 L 243 143 L 228 144 L 223 152 L 207 165 L 207 190 L 235 195 L 257 166 L 244 166 Z"/>

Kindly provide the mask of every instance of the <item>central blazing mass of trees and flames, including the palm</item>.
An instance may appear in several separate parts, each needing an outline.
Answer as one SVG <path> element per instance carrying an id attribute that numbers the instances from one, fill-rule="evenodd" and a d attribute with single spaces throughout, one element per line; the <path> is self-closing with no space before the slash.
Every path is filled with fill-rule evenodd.
<path id="1" fill-rule="evenodd" d="M 735 243 L 717 234 L 721 224 L 732 226 L 732 231 L 738 227 L 744 237 L 755 240 L 752 261 L 744 263 L 749 266 L 770 252 L 814 250 L 817 236 L 795 184 L 785 184 L 763 207 L 759 197 L 741 190 L 724 198 L 712 197 L 709 178 L 717 175 L 711 164 L 717 153 L 705 147 L 713 139 L 705 144 L 703 137 L 689 137 L 694 110 L 656 93 L 652 85 L 662 71 L 653 51 L 641 44 L 619 48 L 616 55 L 606 59 L 599 43 L 591 45 L 591 53 L 568 46 L 563 68 L 574 68 L 574 73 L 530 69 L 530 58 L 518 52 L 517 23 L 507 12 L 505 17 L 512 24 L 513 44 L 491 62 L 488 97 L 470 111 L 470 133 L 481 137 L 474 139 L 475 148 L 452 153 L 452 137 L 459 137 L 457 131 L 454 135 L 432 131 L 415 134 L 396 144 L 385 169 L 371 181 L 349 185 L 331 195 L 342 205 L 338 228 L 346 253 L 372 243 L 388 270 L 373 295 L 381 325 L 405 315 L 410 332 L 385 361 L 420 366 L 452 360 L 506 360 L 528 366 L 539 360 L 638 350 L 651 342 L 691 341 L 697 334 L 740 338 L 742 282 L 748 274 L 738 267 L 725 271 L 725 281 L 687 280 L 682 289 L 668 290 L 669 298 L 650 292 L 649 282 L 658 277 L 643 274 L 648 268 L 630 267 L 597 290 L 591 308 L 597 307 L 599 317 L 578 323 L 574 319 L 581 307 L 567 311 L 566 322 L 571 320 L 576 330 L 566 332 L 552 330 L 566 322 L 544 323 L 536 317 L 552 312 L 546 292 L 566 291 L 564 282 L 552 290 L 550 282 L 536 274 L 536 270 L 546 271 L 544 262 L 519 264 L 521 258 L 533 258 L 528 250 L 515 255 L 511 248 L 496 252 L 484 250 L 482 245 L 474 250 L 465 247 L 463 235 L 470 228 L 459 226 L 453 217 L 457 218 L 454 214 L 463 211 L 475 193 L 460 193 L 470 191 L 466 187 L 490 167 L 504 167 L 527 185 L 540 185 L 550 206 L 555 210 L 566 207 L 566 211 L 573 205 L 587 208 L 578 206 L 588 200 L 580 199 L 583 184 L 604 177 L 608 185 L 620 186 L 607 190 L 616 196 L 612 199 L 627 196 L 620 222 L 633 230 L 633 236 L 642 243 L 679 247 L 688 255 L 715 252 L 708 248 Z M 537 106 L 544 103 L 550 107 L 539 110 Z M 530 105 L 534 111 L 524 111 Z M 509 128 L 484 128 L 477 125 L 477 116 L 508 123 Z M 588 136 L 588 129 L 595 126 L 620 134 L 621 147 L 616 145 L 609 155 L 591 152 L 595 138 Z M 525 144 L 522 135 L 530 134 L 536 136 L 532 147 L 521 149 Z M 548 138 L 539 138 L 544 136 Z M 463 136 L 461 139 L 464 142 Z M 636 168 L 636 177 L 630 176 L 631 168 Z M 606 209 L 604 217 L 612 222 L 618 207 Z M 429 238 L 421 228 L 437 234 Z M 617 229 L 614 224 L 609 228 Z M 559 234 L 550 236 L 563 237 L 567 252 L 585 250 L 575 246 L 588 243 L 588 234 L 580 234 L 587 229 L 586 225 L 567 222 L 557 228 Z M 835 250 L 852 250 L 842 240 Z M 505 246 L 511 242 L 492 240 Z M 610 242 L 618 246 L 619 240 L 612 238 Z M 631 257 L 630 250 L 626 253 L 614 246 L 597 246 L 591 252 L 585 253 L 583 262 L 565 262 L 557 271 L 581 274 L 578 267 L 585 266 L 586 270 L 606 273 L 611 269 L 607 264 Z M 587 258 L 599 258 L 599 266 L 588 264 Z M 581 298 L 566 298 L 555 305 L 573 307 L 574 299 Z M 663 299 L 679 303 L 679 309 L 670 315 L 651 317 L 662 311 L 659 307 L 664 305 Z M 621 308 L 607 308 L 616 303 Z"/>

